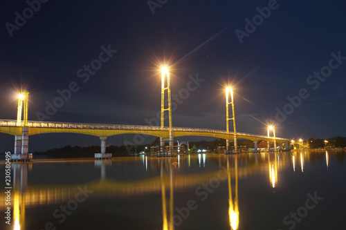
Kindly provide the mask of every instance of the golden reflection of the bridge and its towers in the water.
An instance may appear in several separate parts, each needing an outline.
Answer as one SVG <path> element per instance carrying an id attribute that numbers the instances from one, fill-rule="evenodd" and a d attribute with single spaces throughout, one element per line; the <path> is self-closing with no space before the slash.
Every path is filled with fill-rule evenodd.
<path id="1" fill-rule="evenodd" d="M 304 154 L 298 153 L 300 159 L 301 171 L 304 171 Z M 151 158 L 136 157 L 143 164 L 145 171 L 151 171 L 150 178 L 135 180 L 114 180 L 107 178 L 107 169 L 111 169 L 118 164 L 116 160 L 95 160 L 94 169 L 100 171 L 99 180 L 86 182 L 87 188 L 93 190 L 93 194 L 88 199 L 98 198 L 132 198 L 134 196 L 145 195 L 147 193 L 161 193 L 162 197 L 162 216 L 163 230 L 174 229 L 174 194 L 184 189 L 194 189 L 201 184 L 209 182 L 213 178 L 218 178 L 220 171 L 227 174 L 228 184 L 228 218 L 230 229 L 238 229 L 239 224 L 239 195 L 238 180 L 247 178 L 250 175 L 261 174 L 268 177 L 266 186 L 275 187 L 278 183 L 278 172 L 284 169 L 296 171 L 295 163 L 296 155 L 292 153 L 260 153 L 260 154 L 244 154 L 244 155 L 200 155 L 199 157 L 178 158 Z M 325 159 L 328 168 L 328 153 Z M 128 159 L 129 160 L 129 159 Z M 121 161 L 121 160 L 118 160 Z M 133 161 L 133 160 L 129 160 Z M 34 161 L 29 163 L 12 162 L 13 175 L 13 224 L 14 229 L 25 229 L 25 216 L 27 208 L 37 208 L 48 204 L 63 204 L 73 199 L 78 193 L 78 186 L 83 187 L 84 184 L 28 184 L 28 175 L 32 169 L 39 164 L 52 164 L 51 162 Z M 73 162 L 73 161 L 68 161 Z M 77 160 L 75 162 L 82 162 Z M 86 160 L 89 165 L 93 160 Z M 56 163 L 56 162 L 55 162 Z M 66 163 L 62 161 L 61 164 Z M 205 170 L 203 166 L 208 166 Z M 191 167 L 198 169 L 197 173 Z M 200 168 L 201 167 L 201 168 Z M 269 172 L 269 175 L 267 174 Z M 235 185 L 233 185 L 235 183 Z M 234 198 L 233 198 L 234 195 Z M 226 200 L 226 198 L 225 198 Z M 0 209 L 6 210 L 6 195 L 0 196 Z M 241 204 L 240 204 L 241 207 Z M 226 216 L 225 216 L 226 218 Z"/>

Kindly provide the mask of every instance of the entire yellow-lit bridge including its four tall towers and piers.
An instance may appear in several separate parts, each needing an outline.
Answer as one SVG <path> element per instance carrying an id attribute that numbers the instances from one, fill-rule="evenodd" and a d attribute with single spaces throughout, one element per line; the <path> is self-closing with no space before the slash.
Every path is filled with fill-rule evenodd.
<path id="1" fill-rule="evenodd" d="M 167 94 L 167 103 L 165 102 L 165 95 Z M 17 120 L 13 119 L 0 119 L 0 133 L 8 133 L 15 135 L 15 154 L 12 155 L 13 160 L 29 160 L 28 153 L 28 137 L 29 135 L 36 135 L 42 133 L 80 133 L 86 135 L 94 135 L 100 137 L 101 140 L 101 153 L 95 153 L 95 157 L 109 157 L 111 153 L 106 153 L 106 140 L 107 137 L 125 133 L 146 134 L 160 137 L 161 153 L 165 152 L 165 141 L 169 142 L 169 155 L 172 154 L 172 147 L 174 147 L 174 137 L 183 136 L 206 136 L 218 137 L 226 140 L 225 153 L 238 153 L 237 139 L 244 138 L 252 140 L 255 144 L 255 151 L 257 152 L 257 142 L 264 140 L 269 143 L 274 143 L 274 149 L 277 150 L 277 142 L 282 149 L 282 143 L 285 143 L 286 150 L 289 149 L 289 140 L 282 137 L 275 137 L 275 128 L 268 127 L 268 135 L 253 135 L 249 133 L 236 132 L 235 127 L 235 104 L 233 99 L 233 89 L 226 88 L 226 131 L 215 130 L 210 128 L 184 128 L 172 126 L 172 101 L 170 89 L 170 72 L 166 67 L 161 70 L 161 126 L 137 126 L 125 124 L 84 124 L 84 123 L 70 123 L 70 122 L 41 122 L 41 121 L 28 121 L 28 90 L 18 95 L 18 109 Z M 230 99 L 229 99 L 230 95 Z M 24 120 L 21 120 L 22 107 L 24 104 Z M 166 107 L 167 104 L 167 107 Z M 232 109 L 232 117 L 230 117 L 230 108 Z M 165 126 L 165 112 L 168 112 L 168 126 Z M 229 122 L 233 121 L 233 132 L 229 130 Z M 270 137 L 269 131 L 273 131 L 273 137 Z M 234 149 L 230 151 L 230 140 L 234 140 Z"/>

